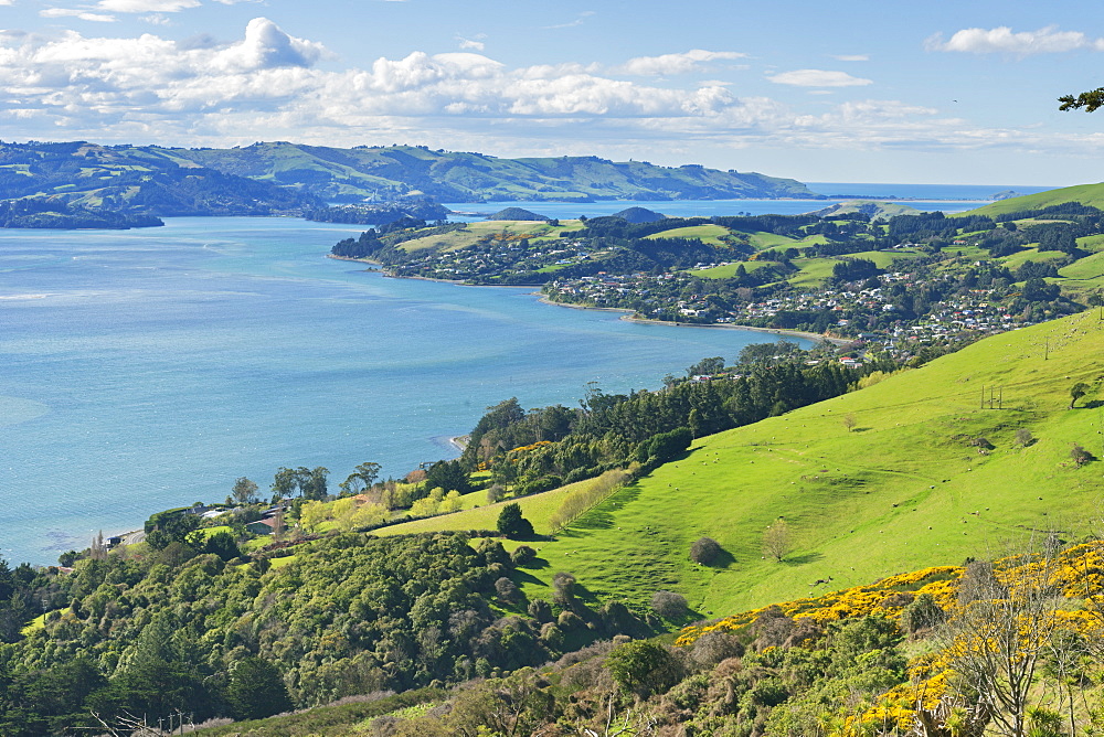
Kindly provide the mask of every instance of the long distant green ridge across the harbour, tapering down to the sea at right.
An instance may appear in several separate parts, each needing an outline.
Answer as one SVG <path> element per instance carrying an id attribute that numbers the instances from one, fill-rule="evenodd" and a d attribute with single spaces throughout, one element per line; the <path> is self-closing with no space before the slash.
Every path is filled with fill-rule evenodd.
<path id="1" fill-rule="evenodd" d="M 284 141 L 233 149 L 134 150 L 181 165 L 295 186 L 331 202 L 412 193 L 442 202 L 820 196 L 792 179 L 597 157 L 499 159 L 420 146 L 339 149 Z"/>

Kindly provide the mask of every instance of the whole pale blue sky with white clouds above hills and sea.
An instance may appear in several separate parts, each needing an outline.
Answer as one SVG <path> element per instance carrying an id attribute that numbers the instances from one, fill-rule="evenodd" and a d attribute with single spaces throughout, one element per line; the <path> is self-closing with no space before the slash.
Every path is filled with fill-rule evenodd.
<path id="1" fill-rule="evenodd" d="M 1104 180 L 1104 3 L 0 0 L 0 139 Z"/>

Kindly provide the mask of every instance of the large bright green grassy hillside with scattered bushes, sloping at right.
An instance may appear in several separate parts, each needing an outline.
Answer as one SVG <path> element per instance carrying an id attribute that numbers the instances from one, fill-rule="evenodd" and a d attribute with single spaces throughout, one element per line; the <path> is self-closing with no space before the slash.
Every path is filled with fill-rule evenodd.
<path id="1" fill-rule="evenodd" d="M 1005 333 L 702 438 L 542 544 L 548 567 L 520 583 L 546 597 L 552 575 L 566 570 L 599 596 L 638 605 L 671 589 L 708 617 L 816 594 L 810 584 L 829 576 L 841 588 L 960 564 L 1032 531 L 1072 538 L 1100 503 L 1101 463 L 1078 468 L 1070 450 L 1076 442 L 1104 456 L 1102 324 L 1093 311 Z M 1092 388 L 1069 409 L 1076 382 Z M 989 387 L 1002 393 L 1002 408 L 979 407 L 983 387 L 986 397 Z M 1020 447 L 1019 429 L 1037 440 Z M 995 448 L 979 453 L 977 437 Z M 762 537 L 779 516 L 794 549 L 775 563 Z M 726 565 L 689 559 L 703 535 L 731 555 Z"/>

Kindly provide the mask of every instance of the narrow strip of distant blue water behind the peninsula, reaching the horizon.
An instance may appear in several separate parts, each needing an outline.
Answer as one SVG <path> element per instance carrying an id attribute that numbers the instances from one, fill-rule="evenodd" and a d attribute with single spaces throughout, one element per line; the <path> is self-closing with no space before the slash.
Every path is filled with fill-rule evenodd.
<path id="1" fill-rule="evenodd" d="M 1054 189 L 1037 185 L 984 184 L 872 184 L 853 182 L 811 182 L 811 191 L 827 200 L 662 200 L 640 202 L 455 202 L 443 203 L 458 213 L 453 221 L 479 221 L 506 207 L 521 207 L 548 217 L 560 220 L 613 215 L 626 207 L 646 207 L 670 217 L 708 217 L 710 215 L 800 215 L 822 210 L 834 201 L 863 197 L 869 200 L 899 200 L 916 210 L 956 213 L 979 207 L 992 201 L 1000 192 L 1033 194 Z"/>

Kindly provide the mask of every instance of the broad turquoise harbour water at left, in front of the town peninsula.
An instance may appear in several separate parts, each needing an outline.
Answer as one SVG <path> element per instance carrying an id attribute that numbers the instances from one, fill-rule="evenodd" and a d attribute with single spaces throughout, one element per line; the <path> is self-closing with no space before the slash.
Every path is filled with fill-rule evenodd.
<path id="1" fill-rule="evenodd" d="M 773 335 L 631 323 L 531 289 L 390 279 L 326 258 L 355 226 L 173 218 L 0 231 L 0 555 L 55 563 L 103 530 L 247 476 L 401 476 L 511 396 L 655 388 Z"/>

